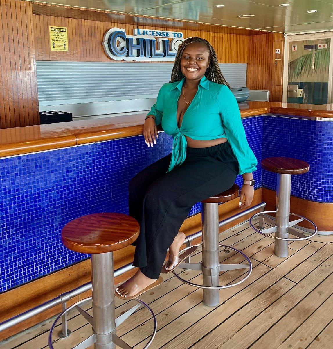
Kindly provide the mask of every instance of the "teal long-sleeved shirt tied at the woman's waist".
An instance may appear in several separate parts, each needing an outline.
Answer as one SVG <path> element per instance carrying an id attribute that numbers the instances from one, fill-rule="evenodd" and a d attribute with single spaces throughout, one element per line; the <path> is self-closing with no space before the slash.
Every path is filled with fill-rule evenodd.
<path id="1" fill-rule="evenodd" d="M 154 115 L 156 125 L 173 137 L 168 172 L 186 158 L 186 138 L 209 140 L 225 137 L 238 160 L 239 174 L 256 170 L 257 159 L 249 147 L 236 98 L 226 85 L 202 77 L 192 103 L 177 125 L 177 102 L 185 78 L 164 84 L 157 101 L 147 115 Z"/>

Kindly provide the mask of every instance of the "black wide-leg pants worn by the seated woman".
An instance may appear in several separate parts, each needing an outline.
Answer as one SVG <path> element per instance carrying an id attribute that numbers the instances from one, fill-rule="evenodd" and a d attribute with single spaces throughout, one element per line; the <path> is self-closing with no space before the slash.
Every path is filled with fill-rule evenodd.
<path id="1" fill-rule="evenodd" d="M 129 184 L 129 214 L 140 223 L 133 265 L 155 280 L 192 206 L 229 189 L 238 174 L 228 142 L 187 148 L 184 163 L 166 173 L 170 159 L 171 154 L 149 165 Z"/>

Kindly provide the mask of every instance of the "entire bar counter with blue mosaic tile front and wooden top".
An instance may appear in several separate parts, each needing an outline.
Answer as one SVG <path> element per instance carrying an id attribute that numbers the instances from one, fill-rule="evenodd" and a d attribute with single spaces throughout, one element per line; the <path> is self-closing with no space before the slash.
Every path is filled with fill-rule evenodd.
<path id="1" fill-rule="evenodd" d="M 310 164 L 308 173 L 292 180 L 291 211 L 313 220 L 321 233 L 333 233 L 333 104 L 245 102 L 239 107 L 258 164 L 273 156 Z M 89 256 L 64 248 L 61 229 L 89 213 L 128 213 L 129 180 L 172 147 L 171 136 L 161 131 L 148 148 L 144 119 L 142 113 L 0 129 L 0 321 L 90 280 Z M 254 178 L 253 204 L 265 201 L 266 209 L 274 209 L 276 174 L 258 165 Z M 238 176 L 236 183 L 241 182 Z M 220 206 L 230 216 L 238 200 Z M 194 205 L 181 227 L 187 234 L 200 230 L 200 211 L 200 203 Z M 115 255 L 115 268 L 131 262 L 133 250 L 129 246 Z M 20 328 L 1 333 L 0 339 Z"/>

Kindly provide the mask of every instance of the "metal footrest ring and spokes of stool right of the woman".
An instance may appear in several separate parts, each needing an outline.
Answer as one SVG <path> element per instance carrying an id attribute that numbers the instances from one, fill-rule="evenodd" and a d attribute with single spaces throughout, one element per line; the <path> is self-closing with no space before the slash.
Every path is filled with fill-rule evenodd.
<path id="1" fill-rule="evenodd" d="M 266 220 L 269 224 L 275 224 L 274 217 L 268 216 L 267 215 L 268 213 L 276 213 L 276 211 L 262 211 L 262 212 L 258 212 L 256 214 L 254 214 L 250 218 L 250 220 L 249 220 L 250 227 L 254 231 L 256 231 L 257 233 L 259 233 L 259 234 L 261 234 L 263 236 L 267 236 L 269 238 L 277 239 L 277 240 L 298 241 L 298 240 L 306 240 L 306 239 L 312 238 L 313 236 L 316 235 L 316 233 L 318 231 L 316 224 L 313 223 L 312 221 L 310 221 L 308 218 L 305 218 L 303 216 L 297 215 L 296 213 L 290 213 L 293 216 L 301 218 L 301 219 L 297 219 L 297 220 L 294 220 L 292 222 L 289 222 L 289 226 L 287 228 L 287 232 L 289 234 L 291 234 L 291 235 L 297 236 L 297 238 L 281 238 L 281 237 L 278 237 L 278 236 L 272 236 L 270 234 L 273 233 L 273 232 L 277 232 L 277 230 L 279 228 L 277 225 L 274 225 L 273 227 L 269 227 L 269 228 L 266 228 L 266 229 L 263 229 L 263 230 L 258 230 L 257 228 L 255 228 L 254 224 L 252 223 L 252 220 L 254 220 L 254 218 L 256 218 L 257 216 L 261 216 L 261 218 L 264 218 L 264 221 Z M 293 225 L 295 225 L 297 223 L 300 223 L 303 220 L 308 221 L 314 227 L 314 232 L 311 235 L 309 235 L 309 236 L 306 236 L 303 233 L 301 233 L 301 232 L 299 232 L 299 231 L 297 231 L 297 230 L 292 228 Z"/>

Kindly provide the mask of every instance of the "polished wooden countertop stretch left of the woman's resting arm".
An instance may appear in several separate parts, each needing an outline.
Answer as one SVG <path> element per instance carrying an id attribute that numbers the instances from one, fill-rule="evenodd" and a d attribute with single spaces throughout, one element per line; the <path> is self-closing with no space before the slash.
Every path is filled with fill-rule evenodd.
<path id="1" fill-rule="evenodd" d="M 146 114 L 0 129 L 0 157 L 142 134 Z"/>

